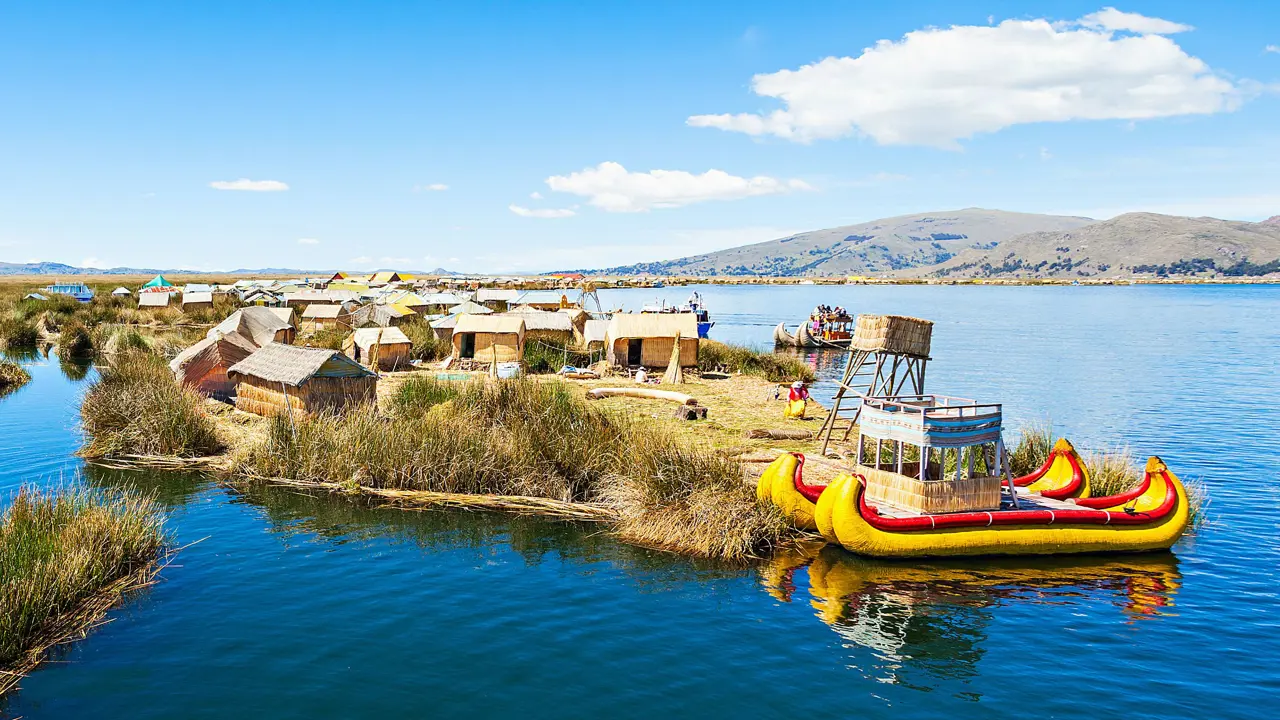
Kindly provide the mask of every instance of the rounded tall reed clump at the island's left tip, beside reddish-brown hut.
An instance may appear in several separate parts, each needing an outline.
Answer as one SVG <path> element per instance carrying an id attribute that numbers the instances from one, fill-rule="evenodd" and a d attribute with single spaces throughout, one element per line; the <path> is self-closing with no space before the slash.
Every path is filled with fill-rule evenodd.
<path id="1" fill-rule="evenodd" d="M 84 457 L 165 455 L 196 457 L 221 451 L 204 398 L 180 387 L 156 355 L 125 352 L 102 368 L 84 395 Z"/>

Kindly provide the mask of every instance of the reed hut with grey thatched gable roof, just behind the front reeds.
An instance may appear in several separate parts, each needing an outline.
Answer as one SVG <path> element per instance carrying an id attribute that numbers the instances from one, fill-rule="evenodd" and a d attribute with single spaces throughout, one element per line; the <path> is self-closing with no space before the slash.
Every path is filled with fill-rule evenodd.
<path id="1" fill-rule="evenodd" d="M 256 415 L 342 413 L 378 400 L 378 374 L 337 350 L 271 343 L 227 375 L 236 407 Z"/>

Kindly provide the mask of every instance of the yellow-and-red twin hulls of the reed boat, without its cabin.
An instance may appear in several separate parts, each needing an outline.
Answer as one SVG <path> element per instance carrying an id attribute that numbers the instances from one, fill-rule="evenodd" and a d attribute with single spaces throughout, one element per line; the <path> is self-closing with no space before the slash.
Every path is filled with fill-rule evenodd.
<path id="1" fill-rule="evenodd" d="M 796 527 L 815 528 L 827 542 L 872 557 L 1132 552 L 1167 550 L 1181 537 L 1189 521 L 1187 491 L 1160 457 L 1152 456 L 1142 483 L 1121 495 L 1056 500 L 1030 489 L 1053 480 L 1050 491 L 1062 492 L 1053 466 L 1070 468 L 1071 457 L 1078 462 L 1074 450 L 1051 456 L 1044 473 L 1019 488 L 1019 506 L 1011 509 L 916 514 L 874 506 L 863 475 L 844 474 L 824 488 L 805 484 L 799 454 L 765 469 L 756 497 L 777 505 Z M 790 488 L 782 479 L 788 468 Z M 1079 468 L 1080 489 L 1071 492 L 1083 493 L 1088 484 Z"/>

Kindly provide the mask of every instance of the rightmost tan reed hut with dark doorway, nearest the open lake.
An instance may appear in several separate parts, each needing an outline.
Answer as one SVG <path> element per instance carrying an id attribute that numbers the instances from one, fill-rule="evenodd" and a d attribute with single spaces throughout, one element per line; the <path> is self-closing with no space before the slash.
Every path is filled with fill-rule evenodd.
<path id="1" fill-rule="evenodd" d="M 666 368 L 680 338 L 680 366 L 698 366 L 698 319 L 692 313 L 617 313 L 604 345 L 609 363 L 623 368 Z"/>

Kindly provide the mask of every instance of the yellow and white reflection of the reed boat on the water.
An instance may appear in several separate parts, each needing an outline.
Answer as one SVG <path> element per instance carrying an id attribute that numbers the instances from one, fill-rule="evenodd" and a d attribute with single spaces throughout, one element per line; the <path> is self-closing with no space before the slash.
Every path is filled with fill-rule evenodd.
<path id="1" fill-rule="evenodd" d="M 1172 553 L 895 562 L 812 543 L 777 553 L 760 582 L 782 602 L 808 589 L 817 618 L 854 651 L 859 670 L 915 685 L 911 675 L 919 673 L 975 676 L 1000 606 L 1106 603 L 1137 623 L 1171 614 L 1181 575 Z"/>

